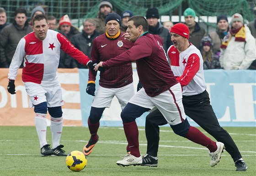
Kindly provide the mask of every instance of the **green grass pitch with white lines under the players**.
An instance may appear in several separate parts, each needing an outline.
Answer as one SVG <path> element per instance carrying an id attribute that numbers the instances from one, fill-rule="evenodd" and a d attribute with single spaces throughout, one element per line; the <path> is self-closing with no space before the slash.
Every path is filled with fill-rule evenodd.
<path id="1" fill-rule="evenodd" d="M 203 129 L 199 128 L 202 132 Z M 229 153 L 224 151 L 217 166 L 210 167 L 208 150 L 185 138 L 175 135 L 170 127 L 161 127 L 158 167 L 116 165 L 126 154 L 123 128 L 100 127 L 99 141 L 83 171 L 70 171 L 66 157 L 40 155 L 40 146 L 34 126 L 0 126 L 0 175 L 1 176 L 255 176 L 256 128 L 226 127 L 243 155 L 248 170 L 235 171 Z M 205 133 L 205 132 L 204 132 Z M 205 133 L 208 135 L 207 133 Z M 210 135 L 208 135 L 211 139 Z M 51 131 L 47 132 L 51 144 Z M 64 127 L 61 144 L 66 153 L 82 151 L 89 140 L 86 127 Z M 214 139 L 213 139 L 214 140 Z M 139 127 L 140 152 L 146 152 L 144 127 Z"/>

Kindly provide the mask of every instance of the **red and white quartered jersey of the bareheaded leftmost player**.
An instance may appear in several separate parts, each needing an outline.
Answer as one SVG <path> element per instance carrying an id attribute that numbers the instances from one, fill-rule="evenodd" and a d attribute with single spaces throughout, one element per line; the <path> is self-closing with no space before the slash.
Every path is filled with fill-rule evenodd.
<path id="1" fill-rule="evenodd" d="M 20 40 L 11 61 L 8 78 L 16 79 L 24 58 L 23 82 L 41 84 L 57 81 L 60 49 L 84 65 L 89 62 L 89 58 L 59 32 L 48 30 L 46 38 L 42 41 L 37 39 L 33 31 Z"/>

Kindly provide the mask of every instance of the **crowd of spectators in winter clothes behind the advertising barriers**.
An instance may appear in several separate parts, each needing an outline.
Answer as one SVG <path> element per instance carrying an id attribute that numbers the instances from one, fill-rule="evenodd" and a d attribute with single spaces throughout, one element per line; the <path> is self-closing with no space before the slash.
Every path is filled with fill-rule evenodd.
<path id="1" fill-rule="evenodd" d="M 49 29 L 63 34 L 76 48 L 91 57 L 94 39 L 106 32 L 106 16 L 114 12 L 113 5 L 108 0 L 102 0 L 98 8 L 98 16 L 93 19 L 85 19 L 81 31 L 72 25 L 68 14 L 62 16 L 59 22 L 56 17 L 48 16 Z M 30 21 L 28 21 L 27 11 L 24 8 L 18 8 L 15 11 L 14 21 L 8 24 L 6 11 L 0 7 L 1 68 L 10 66 L 18 42 L 23 36 L 32 32 L 32 19 L 38 14 L 46 14 L 43 7 L 36 6 L 31 12 Z M 128 19 L 133 16 L 133 12 L 124 10 L 120 16 L 122 20 L 120 31 L 125 33 Z M 189 28 L 189 41 L 202 53 L 204 69 L 256 69 L 256 18 L 246 25 L 243 16 L 238 13 L 232 16 L 231 21 L 228 21 L 226 15 L 220 15 L 217 17 L 216 30 L 207 35 L 202 25 L 195 21 L 195 10 L 187 8 L 184 10 L 183 16 L 184 24 Z M 172 21 L 161 23 L 157 8 L 149 8 L 145 17 L 149 24 L 149 33 L 162 37 L 163 47 L 167 52 L 172 45 L 170 30 L 174 23 Z M 61 50 L 59 68 L 75 67 L 87 68 Z"/>

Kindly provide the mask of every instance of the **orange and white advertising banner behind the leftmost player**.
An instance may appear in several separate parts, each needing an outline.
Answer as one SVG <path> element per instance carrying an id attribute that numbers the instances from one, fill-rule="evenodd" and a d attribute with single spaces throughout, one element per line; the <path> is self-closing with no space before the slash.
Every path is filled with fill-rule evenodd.
<path id="1" fill-rule="evenodd" d="M 21 81 L 22 69 L 18 70 L 18 75 L 15 80 L 16 94 L 14 95 L 11 95 L 7 91 L 8 72 L 9 68 L 0 69 L 0 126 L 34 126 L 35 113 L 33 108 L 29 108 L 29 98 L 24 83 Z M 66 83 L 65 81 L 65 78 L 69 77 L 69 75 L 72 75 L 79 80 L 79 70 L 77 68 L 58 69 L 58 75 L 61 77 L 60 83 L 62 86 L 63 97 L 65 94 L 69 96 L 70 92 L 78 94 L 78 96 L 80 95 L 79 81 L 72 84 L 69 82 Z M 64 99 L 64 106 L 62 106 L 64 112 L 64 125 L 82 126 L 80 102 L 69 102 L 68 98 L 66 98 L 66 100 L 67 102 Z M 49 125 L 49 114 L 47 114 L 47 119 Z"/>

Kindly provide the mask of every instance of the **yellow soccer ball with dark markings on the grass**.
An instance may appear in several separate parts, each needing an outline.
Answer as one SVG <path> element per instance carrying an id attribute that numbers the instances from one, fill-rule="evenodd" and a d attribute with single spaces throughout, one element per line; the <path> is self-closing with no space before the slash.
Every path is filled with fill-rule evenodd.
<path id="1" fill-rule="evenodd" d="M 80 151 L 71 151 L 66 158 L 66 165 L 71 171 L 82 171 L 87 164 L 86 156 Z"/>

